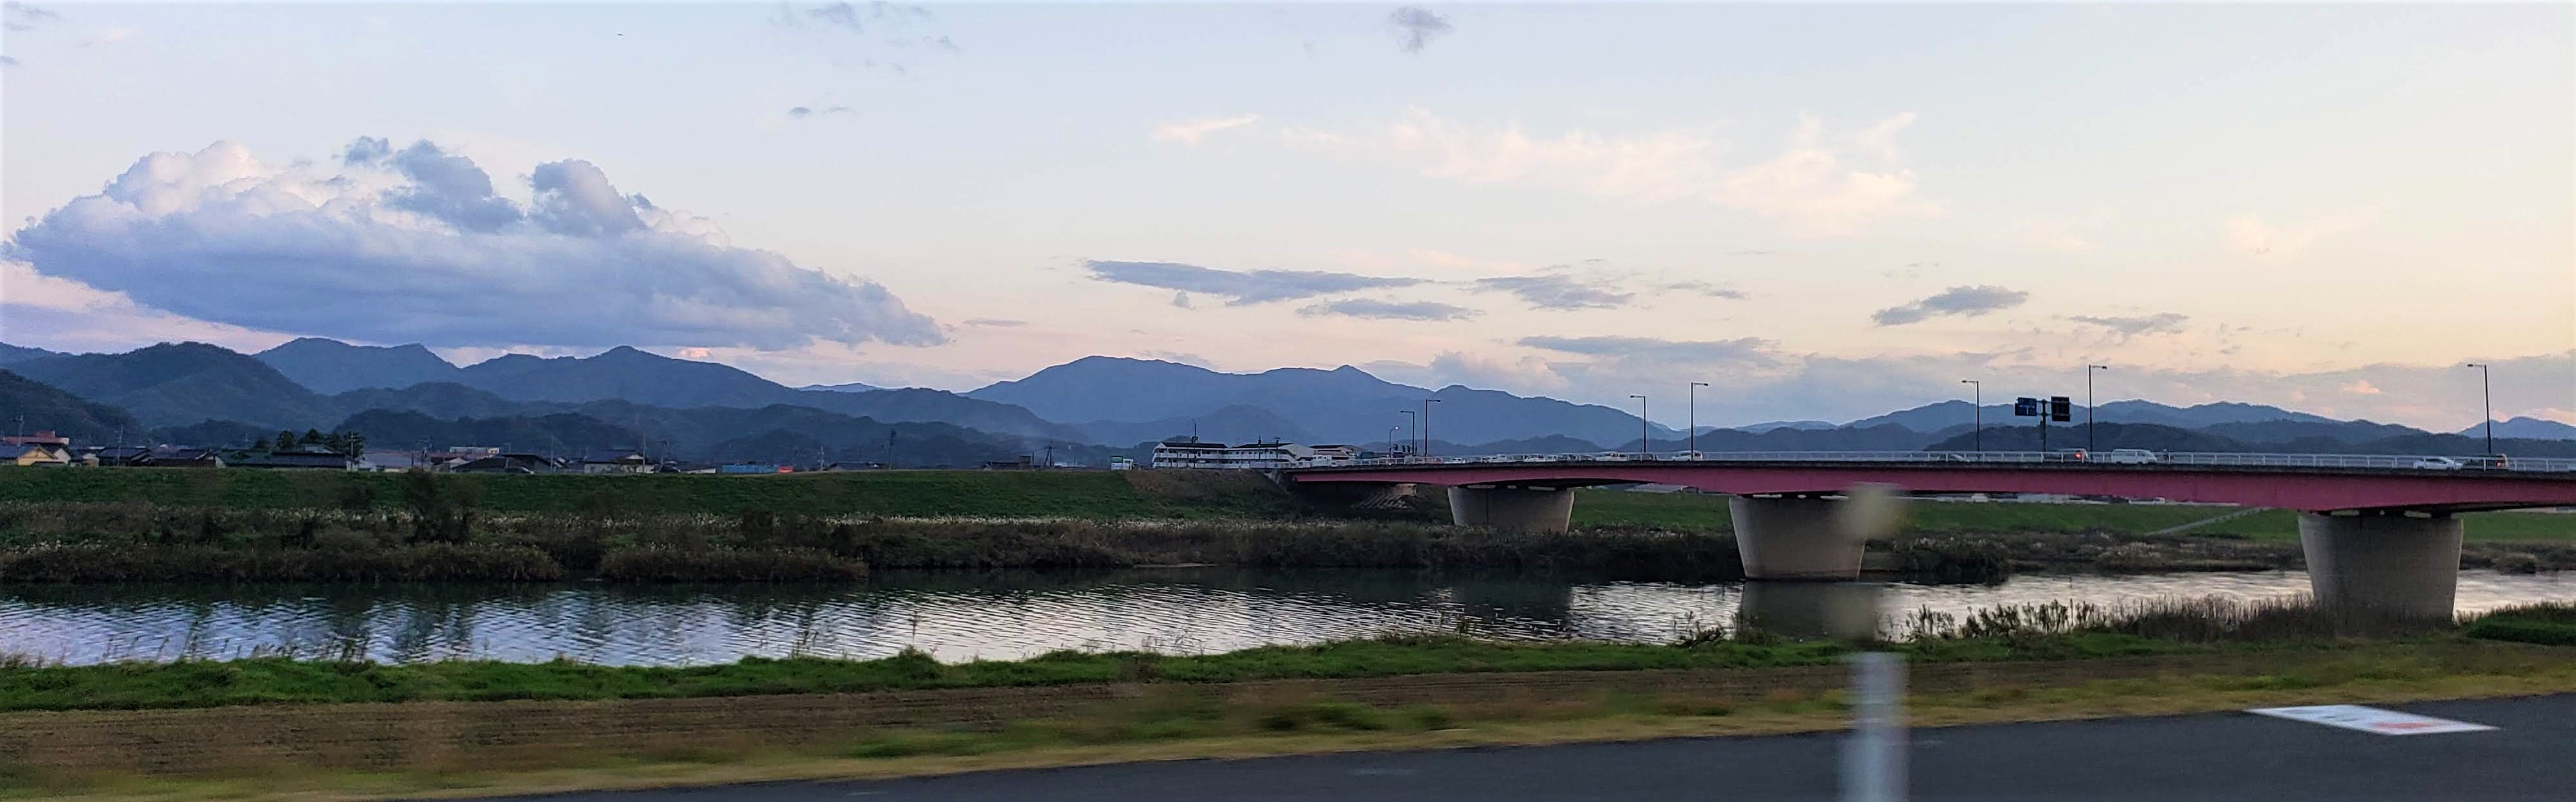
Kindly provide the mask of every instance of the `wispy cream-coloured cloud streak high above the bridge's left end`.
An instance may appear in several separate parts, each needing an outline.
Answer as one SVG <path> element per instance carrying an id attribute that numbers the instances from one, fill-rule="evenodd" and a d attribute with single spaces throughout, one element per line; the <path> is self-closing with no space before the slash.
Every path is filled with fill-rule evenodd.
<path id="1" fill-rule="evenodd" d="M 1726 165 L 1728 142 L 1703 129 L 1649 134 L 1564 132 L 1533 137 L 1520 126 L 1473 126 L 1406 108 L 1373 132 L 1291 126 L 1296 147 L 1368 155 L 1430 178 L 1481 186 L 1538 186 L 1628 204 L 1710 204 L 1790 227 L 1793 235 L 1852 235 L 1873 222 L 1932 214 L 1911 170 L 1855 160 L 1893 157 L 1899 113 L 1855 137 L 1829 137 L 1816 116 L 1798 116 L 1788 144 L 1759 162 Z"/>

